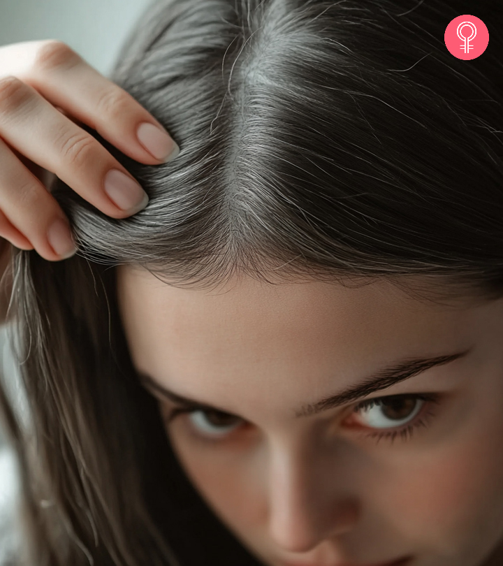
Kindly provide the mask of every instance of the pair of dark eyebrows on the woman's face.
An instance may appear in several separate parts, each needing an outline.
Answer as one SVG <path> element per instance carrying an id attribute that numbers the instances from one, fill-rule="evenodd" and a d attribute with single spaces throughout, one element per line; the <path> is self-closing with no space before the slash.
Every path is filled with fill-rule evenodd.
<path id="1" fill-rule="evenodd" d="M 387 365 L 372 374 L 370 377 L 367 377 L 367 379 L 356 386 L 343 389 L 340 393 L 323 398 L 317 402 L 302 405 L 302 407 L 297 409 L 294 414 L 296 418 L 312 416 L 314 414 L 327 411 L 328 409 L 333 409 L 334 407 L 340 407 L 340 405 L 345 405 L 348 402 L 360 400 L 369 396 L 371 393 L 381 391 L 381 389 L 388 389 L 388 387 L 391 387 L 392 385 L 404 382 L 406 379 L 410 379 L 411 377 L 429 370 L 430 368 L 434 368 L 438 365 L 446 365 L 458 358 L 462 358 L 463 356 L 466 356 L 471 349 L 472 348 L 469 348 L 464 351 L 460 351 L 455 354 L 447 354 L 445 356 L 435 356 L 433 358 L 408 358 L 393 365 Z M 165 386 L 161 386 L 151 375 L 148 375 L 145 372 L 138 371 L 138 377 L 140 382 L 142 382 L 147 389 L 153 389 L 159 395 L 177 403 L 177 405 L 206 410 L 208 412 L 216 411 L 237 416 L 221 409 L 220 407 L 207 405 L 206 403 L 199 402 L 196 399 L 178 395 Z"/>

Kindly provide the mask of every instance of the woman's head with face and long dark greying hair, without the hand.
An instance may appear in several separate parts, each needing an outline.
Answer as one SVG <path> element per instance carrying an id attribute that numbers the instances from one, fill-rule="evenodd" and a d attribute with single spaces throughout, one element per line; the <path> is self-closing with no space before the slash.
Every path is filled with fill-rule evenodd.
<path id="1" fill-rule="evenodd" d="M 12 250 L 29 564 L 501 563 L 502 45 L 452 57 L 463 13 L 149 7 L 112 80 L 180 154 L 78 114 L 150 201 L 59 177 L 78 253 Z"/>

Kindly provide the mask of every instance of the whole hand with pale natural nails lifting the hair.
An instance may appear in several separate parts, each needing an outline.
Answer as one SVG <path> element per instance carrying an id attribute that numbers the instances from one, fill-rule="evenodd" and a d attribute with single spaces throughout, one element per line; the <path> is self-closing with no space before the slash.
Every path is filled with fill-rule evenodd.
<path id="1" fill-rule="evenodd" d="M 75 253 L 68 219 L 48 191 L 54 175 L 113 218 L 145 208 L 145 191 L 79 123 L 144 164 L 179 152 L 143 106 L 65 43 L 0 47 L 2 256 L 10 252 L 5 240 L 49 261 Z"/>

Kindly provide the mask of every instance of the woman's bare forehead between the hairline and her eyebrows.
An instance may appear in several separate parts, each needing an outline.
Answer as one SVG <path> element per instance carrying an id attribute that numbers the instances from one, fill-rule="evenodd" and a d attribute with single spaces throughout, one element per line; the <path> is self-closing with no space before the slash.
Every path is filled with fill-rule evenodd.
<path id="1" fill-rule="evenodd" d="M 313 363 L 328 372 L 363 353 L 374 368 L 466 343 L 484 308 L 420 301 L 386 280 L 349 288 L 246 278 L 214 291 L 180 289 L 126 266 L 117 268 L 117 297 L 137 367 L 187 377 L 309 374 Z"/>

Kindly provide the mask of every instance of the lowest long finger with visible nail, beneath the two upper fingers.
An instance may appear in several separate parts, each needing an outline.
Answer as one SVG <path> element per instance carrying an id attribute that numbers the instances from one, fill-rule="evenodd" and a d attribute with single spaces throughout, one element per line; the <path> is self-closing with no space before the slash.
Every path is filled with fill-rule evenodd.
<path id="1" fill-rule="evenodd" d="M 68 225 L 64 212 L 1 139 L 0 211 L 0 235 L 16 247 L 35 247 L 38 254 L 50 261 L 60 260 L 70 252 L 71 235 L 65 249 L 62 230 L 56 224 L 62 220 Z"/>

